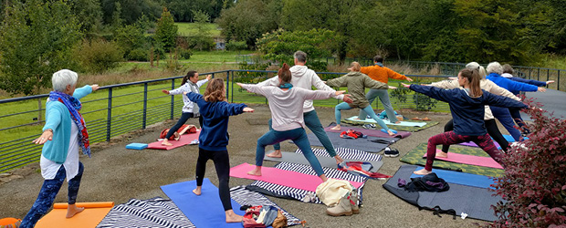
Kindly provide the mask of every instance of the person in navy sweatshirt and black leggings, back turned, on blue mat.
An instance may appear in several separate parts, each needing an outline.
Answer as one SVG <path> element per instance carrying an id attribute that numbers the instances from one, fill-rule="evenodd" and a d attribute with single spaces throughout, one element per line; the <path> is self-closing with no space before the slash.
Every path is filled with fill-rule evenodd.
<path id="1" fill-rule="evenodd" d="M 201 195 L 206 171 L 206 161 L 215 162 L 218 175 L 218 193 L 224 206 L 226 223 L 240 223 L 242 216 L 232 210 L 230 202 L 230 159 L 228 157 L 228 117 L 253 112 L 245 104 L 226 102 L 225 86 L 222 78 L 214 78 L 208 83 L 204 96 L 195 92 L 184 92 L 185 97 L 194 102 L 203 117 L 201 134 L 198 136 L 198 159 L 196 161 L 196 189 L 194 194 Z"/>

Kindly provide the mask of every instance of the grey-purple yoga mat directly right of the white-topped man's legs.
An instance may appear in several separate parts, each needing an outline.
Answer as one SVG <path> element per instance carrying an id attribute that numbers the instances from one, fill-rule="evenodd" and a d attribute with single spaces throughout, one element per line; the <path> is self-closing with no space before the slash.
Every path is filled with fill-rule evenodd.
<path id="1" fill-rule="evenodd" d="M 337 132 L 326 132 L 330 141 L 334 145 L 334 148 L 343 147 L 343 148 L 351 148 L 355 150 L 362 150 L 366 152 L 379 152 L 385 149 L 387 146 L 392 144 L 393 142 L 399 140 L 398 138 L 379 138 L 379 137 L 372 137 L 368 136 L 367 139 L 358 138 L 358 139 L 342 139 L 340 137 L 340 133 Z M 322 146 L 322 142 L 320 142 L 319 138 L 314 133 L 307 134 L 309 137 L 309 142 L 311 146 Z M 372 140 L 386 140 L 390 143 L 379 143 L 379 142 L 372 142 Z"/>

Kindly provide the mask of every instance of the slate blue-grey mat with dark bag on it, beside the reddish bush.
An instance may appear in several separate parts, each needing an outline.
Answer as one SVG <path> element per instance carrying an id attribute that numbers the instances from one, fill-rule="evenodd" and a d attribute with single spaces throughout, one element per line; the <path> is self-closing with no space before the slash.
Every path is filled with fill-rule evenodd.
<path id="1" fill-rule="evenodd" d="M 450 190 L 446 192 L 407 192 L 403 188 L 397 186 L 399 179 L 410 180 L 411 174 L 417 168 L 414 165 L 403 165 L 383 184 L 383 188 L 392 192 L 395 196 L 406 202 L 424 208 L 434 208 L 439 206 L 443 210 L 453 209 L 459 216 L 462 212 L 467 213 L 469 218 L 495 221 L 497 217 L 494 215 L 491 205 L 503 201 L 499 196 L 494 196 L 486 188 L 477 188 L 457 183 L 449 183 Z M 433 212 L 430 212 L 431 216 Z"/>

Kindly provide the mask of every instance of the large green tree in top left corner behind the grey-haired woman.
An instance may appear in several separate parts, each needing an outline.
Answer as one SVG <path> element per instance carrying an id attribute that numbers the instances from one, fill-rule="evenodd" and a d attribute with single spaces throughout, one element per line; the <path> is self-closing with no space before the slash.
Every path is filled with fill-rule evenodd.
<path id="1" fill-rule="evenodd" d="M 35 94 L 51 86 L 51 76 L 75 68 L 71 48 L 80 40 L 79 21 L 66 1 L 14 3 L 0 27 L 0 88 Z"/>

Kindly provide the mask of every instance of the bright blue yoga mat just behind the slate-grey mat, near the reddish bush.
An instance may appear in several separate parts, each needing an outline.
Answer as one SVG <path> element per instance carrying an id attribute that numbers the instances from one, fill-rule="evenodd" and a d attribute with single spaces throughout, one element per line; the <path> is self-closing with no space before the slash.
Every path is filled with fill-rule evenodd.
<path id="1" fill-rule="evenodd" d="M 417 167 L 415 169 L 415 171 L 418 170 L 422 170 L 425 169 L 423 167 Z M 436 173 L 436 176 L 438 176 L 439 178 L 444 179 L 446 182 L 449 183 L 457 183 L 457 184 L 462 184 L 462 185 L 467 185 L 467 186 L 473 186 L 473 187 L 478 187 L 478 188 L 491 188 L 489 187 L 490 184 L 494 184 L 495 181 L 489 179 L 489 177 L 487 176 L 482 176 L 482 175 L 477 175 L 477 174 L 472 174 L 472 173 L 466 173 L 466 172 L 461 172 L 461 171 L 445 171 L 445 170 L 440 170 L 440 169 L 433 169 L 433 172 Z M 411 174 L 411 178 L 416 178 L 416 177 L 423 177 L 422 175 L 416 175 L 416 174 Z M 409 180 L 407 180 L 409 181 Z M 491 188 L 493 189 L 493 188 Z"/>

